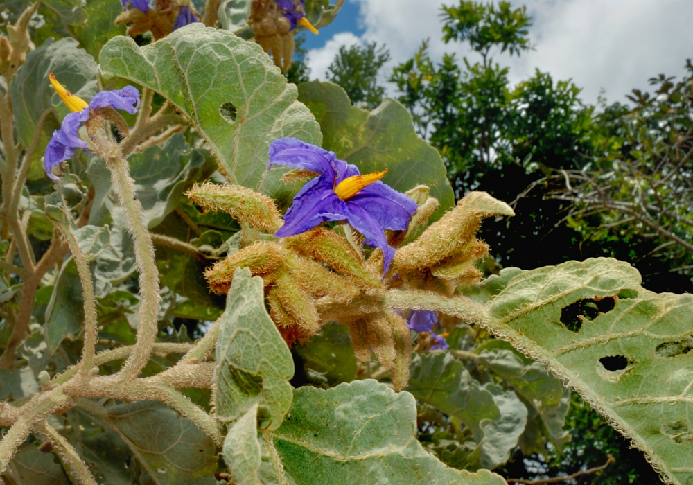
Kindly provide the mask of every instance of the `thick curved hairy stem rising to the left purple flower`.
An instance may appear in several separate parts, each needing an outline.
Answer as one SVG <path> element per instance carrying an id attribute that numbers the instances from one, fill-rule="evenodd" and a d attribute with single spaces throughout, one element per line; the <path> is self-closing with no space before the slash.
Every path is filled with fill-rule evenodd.
<path id="1" fill-rule="evenodd" d="M 130 166 L 121 155 L 116 143 L 108 138 L 103 127 L 94 134 L 94 146 L 98 155 L 111 170 L 112 180 L 121 205 L 125 208 L 128 229 L 134 241 L 135 263 L 139 269 L 139 323 L 137 325 L 137 344 L 125 362 L 119 376 L 123 380 L 137 378 L 149 360 L 152 347 L 157 339 L 157 319 L 161 306 L 159 295 L 159 270 L 154 259 L 152 236 L 144 220 L 142 204 L 134 192 L 134 182 L 130 178 Z"/>

